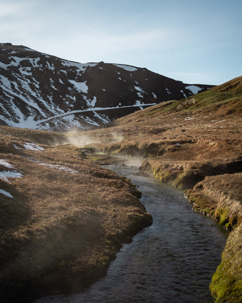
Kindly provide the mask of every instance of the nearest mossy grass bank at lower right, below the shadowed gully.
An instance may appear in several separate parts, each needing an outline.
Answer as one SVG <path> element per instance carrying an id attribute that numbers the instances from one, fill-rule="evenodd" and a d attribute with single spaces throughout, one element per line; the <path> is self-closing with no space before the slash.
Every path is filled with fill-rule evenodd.
<path id="1" fill-rule="evenodd" d="M 225 228 L 233 230 L 210 285 L 216 303 L 239 303 L 242 296 L 241 177 L 242 173 L 206 177 L 187 192 L 196 211 L 217 219 Z"/>

